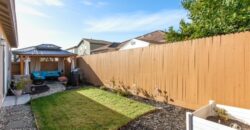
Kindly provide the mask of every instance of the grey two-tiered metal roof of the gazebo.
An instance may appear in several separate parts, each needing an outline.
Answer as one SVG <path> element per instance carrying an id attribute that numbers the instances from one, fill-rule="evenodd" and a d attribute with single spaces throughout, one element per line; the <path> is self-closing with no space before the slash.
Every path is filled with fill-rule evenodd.
<path id="1" fill-rule="evenodd" d="M 76 56 L 76 54 L 70 53 L 66 50 L 62 50 L 61 47 L 54 44 L 40 44 L 38 46 L 32 46 L 12 51 L 16 55 L 29 55 L 29 56 L 55 56 L 55 57 L 69 57 Z"/>

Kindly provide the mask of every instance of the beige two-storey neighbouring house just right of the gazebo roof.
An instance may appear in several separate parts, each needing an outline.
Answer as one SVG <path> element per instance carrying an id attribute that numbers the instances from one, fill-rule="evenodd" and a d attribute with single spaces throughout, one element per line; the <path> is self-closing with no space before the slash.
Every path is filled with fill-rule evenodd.
<path id="1" fill-rule="evenodd" d="M 82 39 L 77 46 L 66 49 L 69 52 L 75 53 L 79 56 L 81 55 L 90 55 L 92 50 L 97 48 L 110 45 L 111 42 L 104 40 L 95 40 L 95 39 Z"/>

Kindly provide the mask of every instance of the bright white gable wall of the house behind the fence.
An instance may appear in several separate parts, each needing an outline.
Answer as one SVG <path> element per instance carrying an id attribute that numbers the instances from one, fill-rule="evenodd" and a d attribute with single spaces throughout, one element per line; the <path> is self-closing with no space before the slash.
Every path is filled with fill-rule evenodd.
<path id="1" fill-rule="evenodd" d="M 130 40 L 126 45 L 124 45 L 120 50 L 128 50 L 128 49 L 135 49 L 135 48 L 141 48 L 141 47 L 147 47 L 150 43 L 144 42 L 137 39 Z"/>

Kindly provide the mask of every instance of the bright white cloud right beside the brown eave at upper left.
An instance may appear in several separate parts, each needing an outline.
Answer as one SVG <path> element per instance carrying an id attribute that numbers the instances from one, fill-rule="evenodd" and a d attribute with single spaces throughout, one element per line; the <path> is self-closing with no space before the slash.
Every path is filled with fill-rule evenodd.
<path id="1" fill-rule="evenodd" d="M 16 6 L 17 13 L 24 14 L 24 15 L 33 15 L 33 16 L 39 16 L 39 17 L 48 17 L 48 15 L 44 14 L 43 12 L 40 12 L 36 10 L 33 7 L 26 6 L 19 4 Z"/>

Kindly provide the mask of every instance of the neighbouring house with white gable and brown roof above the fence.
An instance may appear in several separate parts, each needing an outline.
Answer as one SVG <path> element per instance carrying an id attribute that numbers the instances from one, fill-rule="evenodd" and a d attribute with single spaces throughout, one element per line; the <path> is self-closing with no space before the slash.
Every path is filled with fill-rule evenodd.
<path id="1" fill-rule="evenodd" d="M 124 41 L 118 46 L 118 50 L 128 50 L 147 47 L 150 45 L 164 44 L 166 43 L 165 34 L 166 33 L 164 31 L 157 30 L 134 39 Z"/>

